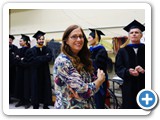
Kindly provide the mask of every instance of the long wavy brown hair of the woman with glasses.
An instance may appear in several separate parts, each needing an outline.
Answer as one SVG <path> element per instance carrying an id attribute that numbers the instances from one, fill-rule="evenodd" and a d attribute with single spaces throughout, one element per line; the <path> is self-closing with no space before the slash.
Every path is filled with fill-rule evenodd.
<path id="1" fill-rule="evenodd" d="M 68 36 L 70 35 L 70 33 L 77 28 L 80 28 L 80 30 L 83 34 L 84 45 L 83 45 L 82 49 L 79 51 L 78 55 L 75 56 L 73 54 L 70 46 L 66 44 L 66 41 L 68 40 Z M 90 60 L 90 52 L 87 47 L 87 42 L 88 42 L 87 38 L 86 38 L 82 28 L 78 25 L 71 25 L 65 30 L 65 32 L 63 34 L 61 51 L 71 59 L 73 66 L 79 72 L 82 71 L 84 68 L 87 72 L 93 73 L 93 66 L 92 66 L 92 62 Z"/>

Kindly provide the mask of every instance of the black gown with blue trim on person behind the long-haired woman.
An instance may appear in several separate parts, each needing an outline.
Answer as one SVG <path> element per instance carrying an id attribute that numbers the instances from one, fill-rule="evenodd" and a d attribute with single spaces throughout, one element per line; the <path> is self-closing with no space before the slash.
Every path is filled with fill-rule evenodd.
<path id="1" fill-rule="evenodd" d="M 104 109 L 105 108 L 105 97 L 106 97 L 106 90 L 107 90 L 107 60 L 108 54 L 106 49 L 102 45 L 97 45 L 94 47 L 90 47 L 91 52 L 91 59 L 93 62 L 93 66 L 95 69 L 95 75 L 97 75 L 97 69 L 101 69 L 106 74 L 106 81 L 100 86 L 100 89 L 95 94 L 95 103 L 97 109 Z"/>

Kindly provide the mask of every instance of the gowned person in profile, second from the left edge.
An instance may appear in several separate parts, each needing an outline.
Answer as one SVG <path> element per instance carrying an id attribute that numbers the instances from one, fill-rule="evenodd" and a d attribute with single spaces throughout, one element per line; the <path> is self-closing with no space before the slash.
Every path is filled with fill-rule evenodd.
<path id="1" fill-rule="evenodd" d="M 28 65 L 25 62 L 25 54 L 30 48 L 30 38 L 24 34 L 21 34 L 19 52 L 16 55 L 17 76 L 15 82 L 15 97 L 19 99 L 19 102 L 15 107 L 25 106 L 25 109 L 31 106 L 30 104 L 30 79 L 28 79 Z"/>

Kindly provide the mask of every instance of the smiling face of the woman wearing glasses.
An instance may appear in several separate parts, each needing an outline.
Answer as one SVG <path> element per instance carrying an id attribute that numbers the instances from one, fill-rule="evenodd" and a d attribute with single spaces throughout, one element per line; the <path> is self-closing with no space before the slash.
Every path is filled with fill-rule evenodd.
<path id="1" fill-rule="evenodd" d="M 80 28 L 76 28 L 70 33 L 66 44 L 70 46 L 75 55 L 79 53 L 84 45 L 84 36 Z"/>

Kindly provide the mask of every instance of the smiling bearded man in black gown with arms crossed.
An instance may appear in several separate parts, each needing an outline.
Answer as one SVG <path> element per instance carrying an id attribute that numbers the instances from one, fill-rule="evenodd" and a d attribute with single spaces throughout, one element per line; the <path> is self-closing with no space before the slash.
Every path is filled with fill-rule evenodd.
<path id="1" fill-rule="evenodd" d="M 30 61 L 31 72 L 31 102 L 33 109 L 39 109 L 39 104 L 43 104 L 44 109 L 49 109 L 52 104 L 51 79 L 49 62 L 52 59 L 50 49 L 43 45 L 45 33 L 37 31 L 34 38 L 37 45 L 27 51 L 26 59 Z"/>

